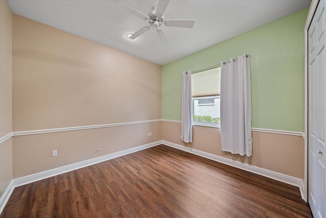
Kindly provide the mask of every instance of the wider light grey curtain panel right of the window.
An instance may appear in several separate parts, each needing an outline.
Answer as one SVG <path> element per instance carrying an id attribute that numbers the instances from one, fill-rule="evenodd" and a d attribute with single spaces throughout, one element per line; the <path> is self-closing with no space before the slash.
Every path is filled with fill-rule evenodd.
<path id="1" fill-rule="evenodd" d="M 222 151 L 252 155 L 250 56 L 221 63 Z"/>

